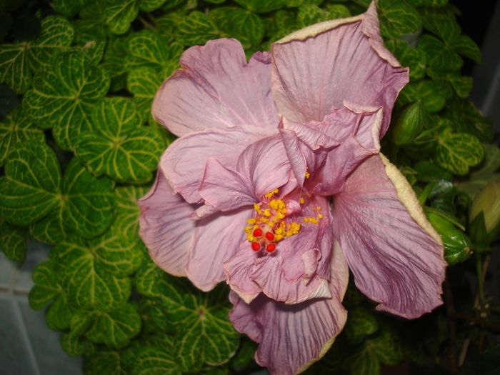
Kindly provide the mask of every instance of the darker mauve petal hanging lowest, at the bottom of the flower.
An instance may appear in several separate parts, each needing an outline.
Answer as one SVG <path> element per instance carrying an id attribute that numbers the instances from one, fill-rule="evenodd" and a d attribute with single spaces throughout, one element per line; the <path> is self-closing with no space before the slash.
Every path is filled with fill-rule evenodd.
<path id="1" fill-rule="evenodd" d="M 287 305 L 264 295 L 251 304 L 231 291 L 234 308 L 229 319 L 234 327 L 259 342 L 255 359 L 271 374 L 296 374 L 321 359 L 346 322 L 341 300 L 349 274 L 340 249 L 334 250 L 331 261 L 331 299 L 314 299 Z"/>

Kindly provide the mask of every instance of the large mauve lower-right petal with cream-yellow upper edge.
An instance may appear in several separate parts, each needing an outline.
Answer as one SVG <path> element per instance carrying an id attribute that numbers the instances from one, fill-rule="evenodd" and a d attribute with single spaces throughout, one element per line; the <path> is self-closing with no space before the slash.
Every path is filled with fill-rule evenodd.
<path id="1" fill-rule="evenodd" d="M 404 176 L 384 156 L 366 159 L 334 197 L 334 236 L 356 286 L 377 309 L 416 318 L 440 305 L 445 262 Z"/>

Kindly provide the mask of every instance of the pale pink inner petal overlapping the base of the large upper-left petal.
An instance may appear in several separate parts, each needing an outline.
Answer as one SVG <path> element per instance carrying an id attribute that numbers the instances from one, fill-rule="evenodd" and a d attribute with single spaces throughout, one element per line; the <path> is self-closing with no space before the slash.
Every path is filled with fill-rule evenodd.
<path id="1" fill-rule="evenodd" d="M 199 203 L 206 160 L 215 157 L 236 168 L 241 151 L 257 139 L 259 129 L 253 126 L 196 131 L 174 141 L 161 156 L 160 166 L 176 193 L 189 203 Z"/>

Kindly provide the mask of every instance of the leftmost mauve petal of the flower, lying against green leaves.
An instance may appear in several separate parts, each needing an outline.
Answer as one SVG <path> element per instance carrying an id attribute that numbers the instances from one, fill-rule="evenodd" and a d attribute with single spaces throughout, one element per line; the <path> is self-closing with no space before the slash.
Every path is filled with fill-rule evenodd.
<path id="1" fill-rule="evenodd" d="M 186 276 L 195 224 L 189 216 L 195 206 L 174 194 L 160 170 L 154 185 L 137 204 L 141 208 L 139 234 L 151 258 L 169 274 Z"/>

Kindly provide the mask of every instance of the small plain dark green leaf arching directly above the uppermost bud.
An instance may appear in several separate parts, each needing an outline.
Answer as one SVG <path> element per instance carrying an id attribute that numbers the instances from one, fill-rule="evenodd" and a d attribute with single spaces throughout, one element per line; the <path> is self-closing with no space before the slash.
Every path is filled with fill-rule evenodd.
<path id="1" fill-rule="evenodd" d="M 401 90 L 398 100 L 400 104 L 421 100 L 424 109 L 430 113 L 440 111 L 446 103 L 446 96 L 439 83 L 426 79 L 410 82 Z"/>

